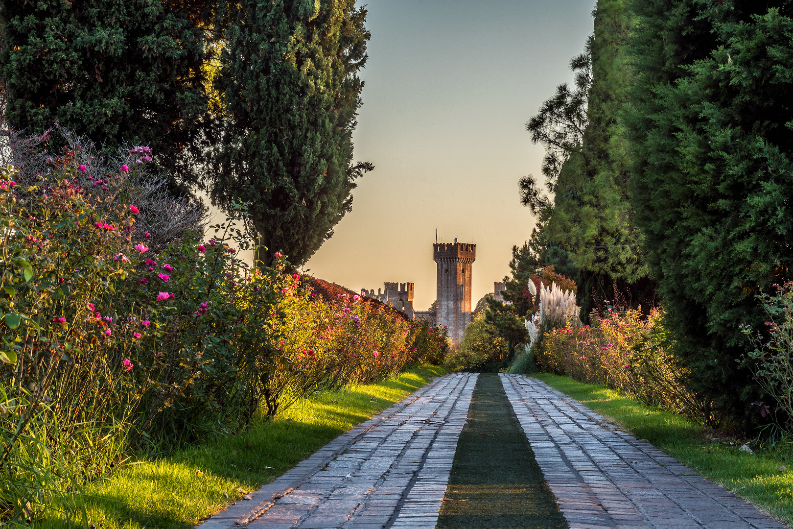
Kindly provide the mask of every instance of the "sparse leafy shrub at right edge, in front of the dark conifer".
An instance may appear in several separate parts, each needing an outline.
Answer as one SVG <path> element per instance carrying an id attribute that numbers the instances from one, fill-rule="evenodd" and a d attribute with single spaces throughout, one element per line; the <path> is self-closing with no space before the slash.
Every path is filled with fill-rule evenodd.
<path id="1" fill-rule="evenodd" d="M 752 403 L 758 406 L 760 416 L 769 416 L 776 427 L 790 434 L 793 427 L 793 282 L 785 282 L 773 296 L 760 293 L 757 299 L 769 321 L 765 322 L 765 335 L 753 334 L 752 328 L 742 326 L 754 351 L 748 351 L 741 363 L 747 364 L 765 396 L 772 399 L 772 405 L 763 401 Z"/>

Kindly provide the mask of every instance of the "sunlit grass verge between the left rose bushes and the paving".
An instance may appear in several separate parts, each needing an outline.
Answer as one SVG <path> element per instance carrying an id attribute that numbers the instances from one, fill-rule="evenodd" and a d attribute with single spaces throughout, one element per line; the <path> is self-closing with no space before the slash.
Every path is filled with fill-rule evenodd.
<path id="1" fill-rule="evenodd" d="M 102 529 L 191 527 L 446 373 L 421 366 L 378 384 L 318 393 L 240 435 L 134 462 L 86 488 L 88 521 Z"/>

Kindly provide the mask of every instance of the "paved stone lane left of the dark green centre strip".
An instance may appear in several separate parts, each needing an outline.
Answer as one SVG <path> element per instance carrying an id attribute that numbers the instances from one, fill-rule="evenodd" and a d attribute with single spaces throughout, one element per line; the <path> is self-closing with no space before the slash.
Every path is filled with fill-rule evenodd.
<path id="1" fill-rule="evenodd" d="M 477 374 L 449 374 L 328 443 L 201 529 L 435 527 Z"/>

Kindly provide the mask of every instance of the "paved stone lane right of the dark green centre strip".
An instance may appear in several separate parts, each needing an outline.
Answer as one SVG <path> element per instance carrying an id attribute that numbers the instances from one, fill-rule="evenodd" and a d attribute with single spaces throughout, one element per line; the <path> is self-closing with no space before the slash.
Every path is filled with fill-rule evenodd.
<path id="1" fill-rule="evenodd" d="M 571 529 L 785 527 L 549 385 L 500 377 Z"/>

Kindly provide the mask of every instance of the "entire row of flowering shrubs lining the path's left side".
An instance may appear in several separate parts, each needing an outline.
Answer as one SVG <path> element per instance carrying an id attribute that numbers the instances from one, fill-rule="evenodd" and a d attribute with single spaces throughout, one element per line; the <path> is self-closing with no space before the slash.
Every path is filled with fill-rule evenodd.
<path id="1" fill-rule="evenodd" d="M 145 160 L 113 172 L 77 162 L 67 152 L 24 185 L 0 170 L 0 519 L 30 523 L 56 496 L 78 516 L 75 491 L 130 450 L 236 432 L 260 410 L 445 350 L 425 322 L 349 293 L 317 297 L 280 255 L 243 266 L 232 223 L 244 205 L 208 242 L 187 231 L 166 243 L 136 229 L 156 204 L 130 201 Z"/>

